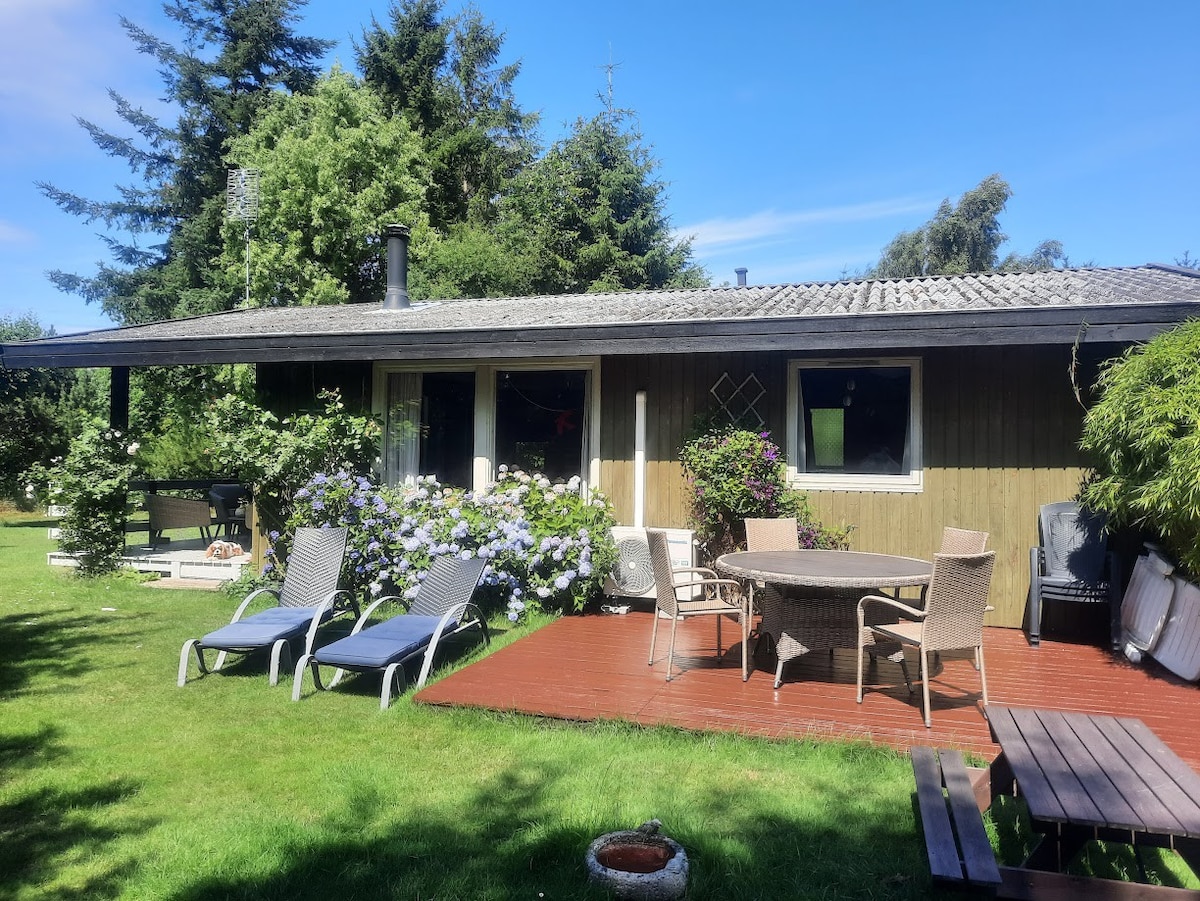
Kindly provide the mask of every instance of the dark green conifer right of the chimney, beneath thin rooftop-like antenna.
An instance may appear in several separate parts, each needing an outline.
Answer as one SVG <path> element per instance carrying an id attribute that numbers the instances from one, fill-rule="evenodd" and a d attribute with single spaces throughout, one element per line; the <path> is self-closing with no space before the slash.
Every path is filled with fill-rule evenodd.
<path id="1" fill-rule="evenodd" d="M 626 113 L 577 120 L 512 181 L 500 234 L 533 262 L 530 293 L 707 284 L 691 242 L 676 238 L 666 185 Z"/>

